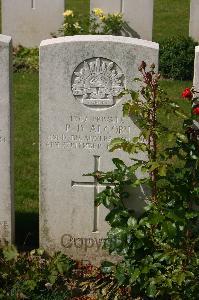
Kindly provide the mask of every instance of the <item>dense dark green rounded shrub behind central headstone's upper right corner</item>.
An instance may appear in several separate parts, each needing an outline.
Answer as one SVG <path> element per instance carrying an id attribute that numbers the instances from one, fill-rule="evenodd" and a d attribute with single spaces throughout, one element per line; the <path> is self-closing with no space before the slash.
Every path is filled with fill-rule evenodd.
<path id="1" fill-rule="evenodd" d="M 167 38 L 160 42 L 160 72 L 165 78 L 192 80 L 195 46 L 190 37 Z"/>

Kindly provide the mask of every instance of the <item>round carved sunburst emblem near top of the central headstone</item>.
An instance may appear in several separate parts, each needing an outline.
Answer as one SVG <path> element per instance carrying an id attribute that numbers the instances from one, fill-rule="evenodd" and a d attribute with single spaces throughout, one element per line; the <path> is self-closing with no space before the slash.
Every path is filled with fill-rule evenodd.
<path id="1" fill-rule="evenodd" d="M 115 105 L 123 90 L 124 74 L 116 63 L 105 58 L 84 61 L 72 77 L 73 95 L 91 108 Z"/>

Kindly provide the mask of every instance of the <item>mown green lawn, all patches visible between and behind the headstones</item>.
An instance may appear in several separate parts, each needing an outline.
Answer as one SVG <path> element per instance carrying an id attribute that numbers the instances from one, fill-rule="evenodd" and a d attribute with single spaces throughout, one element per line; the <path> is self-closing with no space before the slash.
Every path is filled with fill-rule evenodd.
<path id="1" fill-rule="evenodd" d="M 67 8 L 88 13 L 89 1 L 68 0 Z M 154 40 L 180 33 L 187 35 L 188 10 L 188 0 L 155 0 Z M 187 104 L 180 95 L 191 82 L 163 80 L 161 84 L 187 111 Z M 38 107 L 38 74 L 14 74 L 16 242 L 24 247 L 38 244 Z M 181 126 L 177 118 L 169 123 L 172 127 Z"/>

